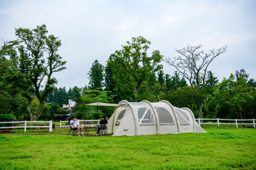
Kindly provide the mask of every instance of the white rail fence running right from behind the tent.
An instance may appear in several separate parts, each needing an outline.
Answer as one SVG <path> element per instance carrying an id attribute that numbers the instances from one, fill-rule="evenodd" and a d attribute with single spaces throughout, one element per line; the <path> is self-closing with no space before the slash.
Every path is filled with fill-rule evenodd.
<path id="1" fill-rule="evenodd" d="M 253 125 L 253 128 L 255 128 L 255 119 L 222 119 L 222 118 L 196 118 L 198 124 L 201 126 L 202 124 L 216 124 L 218 126 L 220 125 L 236 125 L 238 128 L 238 125 Z M 204 122 L 210 121 L 210 122 Z M 229 122 L 230 123 L 222 123 L 223 122 Z M 247 122 L 247 123 L 244 123 Z M 249 122 L 249 123 L 248 123 Z"/>

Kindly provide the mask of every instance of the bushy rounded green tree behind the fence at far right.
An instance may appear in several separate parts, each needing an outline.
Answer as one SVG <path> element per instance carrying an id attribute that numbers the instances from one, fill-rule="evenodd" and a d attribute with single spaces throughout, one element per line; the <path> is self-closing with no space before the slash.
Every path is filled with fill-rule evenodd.
<path id="1" fill-rule="evenodd" d="M 215 91 L 217 115 L 224 118 L 247 119 L 255 117 L 256 93 L 248 87 L 246 80 L 234 75 L 223 79 Z"/>

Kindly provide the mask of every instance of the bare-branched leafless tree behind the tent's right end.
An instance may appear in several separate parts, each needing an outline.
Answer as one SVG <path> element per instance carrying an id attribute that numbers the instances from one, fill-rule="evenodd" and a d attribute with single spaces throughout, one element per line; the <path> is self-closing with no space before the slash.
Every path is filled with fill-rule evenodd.
<path id="1" fill-rule="evenodd" d="M 165 62 L 171 66 L 174 66 L 185 79 L 188 80 L 191 88 L 197 88 L 203 90 L 206 86 L 207 69 L 209 64 L 219 55 L 226 52 L 226 47 L 223 46 L 218 50 L 210 50 L 209 53 L 199 51 L 201 45 L 183 47 L 182 50 L 176 50 L 179 54 L 173 60 L 165 58 Z M 203 94 L 203 93 L 202 93 Z M 206 99 L 206 94 L 204 99 Z M 203 101 L 196 101 L 196 105 L 199 111 L 199 118 L 202 118 L 202 108 L 204 105 Z"/>

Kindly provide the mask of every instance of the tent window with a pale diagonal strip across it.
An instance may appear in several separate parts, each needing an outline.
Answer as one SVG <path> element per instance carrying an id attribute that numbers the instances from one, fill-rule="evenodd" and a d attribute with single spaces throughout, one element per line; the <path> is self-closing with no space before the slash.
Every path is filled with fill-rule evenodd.
<path id="1" fill-rule="evenodd" d="M 139 125 L 155 125 L 154 118 L 149 108 L 138 109 Z"/>

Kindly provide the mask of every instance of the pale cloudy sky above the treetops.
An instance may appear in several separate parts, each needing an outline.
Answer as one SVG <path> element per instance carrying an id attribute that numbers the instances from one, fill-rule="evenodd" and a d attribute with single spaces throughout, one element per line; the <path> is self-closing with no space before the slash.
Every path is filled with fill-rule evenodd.
<path id="1" fill-rule="evenodd" d="M 164 58 L 178 56 L 175 50 L 199 45 L 207 53 L 227 45 L 209 70 L 228 78 L 245 69 L 256 79 L 256 1 L 165 1 L 165 0 L 0 0 L 0 46 L 16 39 L 15 28 L 34 29 L 45 24 L 58 36 L 57 52 L 67 69 L 53 75 L 59 87 L 88 86 L 88 72 L 95 60 L 103 66 L 132 37 L 151 41 L 148 56 L 159 50 Z M 161 62 L 164 74 L 174 67 Z"/>

